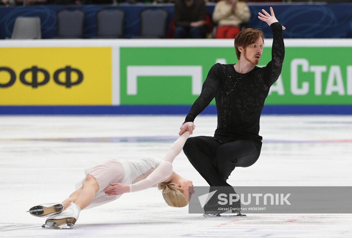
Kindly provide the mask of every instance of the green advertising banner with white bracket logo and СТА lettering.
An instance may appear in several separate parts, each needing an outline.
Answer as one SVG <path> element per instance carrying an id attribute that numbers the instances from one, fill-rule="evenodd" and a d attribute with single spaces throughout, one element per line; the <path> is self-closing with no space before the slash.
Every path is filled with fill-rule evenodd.
<path id="1" fill-rule="evenodd" d="M 285 47 L 265 105 L 352 105 L 351 55 L 352 47 Z M 258 66 L 270 60 L 264 47 Z M 217 62 L 236 63 L 234 48 L 120 47 L 120 105 L 191 105 Z"/>

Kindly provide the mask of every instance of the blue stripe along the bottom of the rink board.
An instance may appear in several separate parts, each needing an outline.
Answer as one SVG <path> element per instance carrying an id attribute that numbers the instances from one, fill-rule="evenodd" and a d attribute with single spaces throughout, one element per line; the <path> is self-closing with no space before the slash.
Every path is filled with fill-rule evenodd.
<path id="1" fill-rule="evenodd" d="M 191 106 L 0 106 L 0 115 L 184 115 Z M 202 114 L 216 115 L 215 105 Z M 352 115 L 352 105 L 267 105 L 262 114 Z"/>

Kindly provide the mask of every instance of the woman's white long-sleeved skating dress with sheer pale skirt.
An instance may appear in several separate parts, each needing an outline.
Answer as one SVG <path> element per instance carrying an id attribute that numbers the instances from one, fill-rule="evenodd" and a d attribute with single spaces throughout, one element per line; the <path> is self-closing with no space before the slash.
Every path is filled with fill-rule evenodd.
<path id="1" fill-rule="evenodd" d="M 130 192 L 141 191 L 150 187 L 156 187 L 160 182 L 168 179 L 172 174 L 172 161 L 181 152 L 184 143 L 189 136 L 188 131 L 183 133 L 166 153 L 165 159 L 161 160 L 154 156 L 144 156 L 132 160 L 109 160 L 99 165 L 84 169 L 85 175 L 93 175 L 98 181 L 99 191 L 95 194 L 92 203 L 84 208 L 92 208 L 118 199 L 118 196 L 108 196 L 104 189 L 111 187 L 110 183 L 130 185 Z M 78 182 L 75 187 L 82 187 L 84 181 Z"/>

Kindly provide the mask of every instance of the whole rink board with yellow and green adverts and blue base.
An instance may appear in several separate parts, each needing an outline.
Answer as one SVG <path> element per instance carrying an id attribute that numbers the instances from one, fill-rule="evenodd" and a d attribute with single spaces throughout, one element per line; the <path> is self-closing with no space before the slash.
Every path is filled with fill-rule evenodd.
<path id="1" fill-rule="evenodd" d="M 265 40 L 260 67 L 271 60 Z M 1 114 L 185 114 L 233 40 L 0 41 Z M 352 114 L 352 42 L 287 39 L 263 113 Z M 216 114 L 215 101 L 206 111 Z"/>

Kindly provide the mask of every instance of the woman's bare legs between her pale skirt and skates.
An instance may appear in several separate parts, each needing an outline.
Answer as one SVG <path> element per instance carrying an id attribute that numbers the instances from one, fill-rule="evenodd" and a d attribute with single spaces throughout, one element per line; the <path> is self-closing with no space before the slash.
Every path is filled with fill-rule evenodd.
<path id="1" fill-rule="evenodd" d="M 77 189 L 73 192 L 68 199 L 65 199 L 61 204 L 68 206 L 71 202 L 74 202 L 81 210 L 87 207 L 94 198 L 94 194 L 99 191 L 99 184 L 94 176 L 88 174 L 86 180 L 83 183 L 82 188 Z M 65 209 L 66 207 L 64 207 Z"/>

